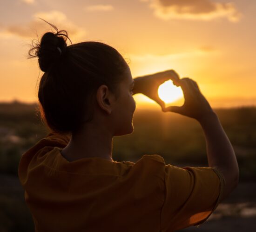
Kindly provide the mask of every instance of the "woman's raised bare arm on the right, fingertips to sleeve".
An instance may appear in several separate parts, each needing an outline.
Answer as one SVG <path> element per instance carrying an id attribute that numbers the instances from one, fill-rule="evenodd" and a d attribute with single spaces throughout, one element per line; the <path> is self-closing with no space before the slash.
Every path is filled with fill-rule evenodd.
<path id="1" fill-rule="evenodd" d="M 209 167 L 220 171 L 225 181 L 221 199 L 223 200 L 236 188 L 239 180 L 239 168 L 234 149 L 218 116 L 200 92 L 196 82 L 190 78 L 182 78 L 174 84 L 182 87 L 185 102 L 181 107 L 170 106 L 164 111 L 195 118 L 202 126 L 207 143 Z"/>

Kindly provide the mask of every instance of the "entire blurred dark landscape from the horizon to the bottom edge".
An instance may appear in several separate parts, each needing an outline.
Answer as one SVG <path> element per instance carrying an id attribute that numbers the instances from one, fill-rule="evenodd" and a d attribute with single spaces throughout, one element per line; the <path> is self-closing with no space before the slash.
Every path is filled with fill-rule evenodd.
<path id="1" fill-rule="evenodd" d="M 0 103 L 0 229 L 4 232 L 34 231 L 17 168 L 21 155 L 48 133 L 36 106 Z M 214 110 L 235 149 L 240 183 L 199 228 L 204 232 L 241 231 L 237 228 L 252 232 L 256 219 L 256 107 Z M 133 133 L 114 137 L 115 161 L 136 162 L 142 155 L 157 154 L 178 167 L 208 167 L 203 131 L 194 119 L 160 109 L 137 109 L 133 124 Z M 182 232 L 195 230 L 198 228 L 192 226 Z"/>

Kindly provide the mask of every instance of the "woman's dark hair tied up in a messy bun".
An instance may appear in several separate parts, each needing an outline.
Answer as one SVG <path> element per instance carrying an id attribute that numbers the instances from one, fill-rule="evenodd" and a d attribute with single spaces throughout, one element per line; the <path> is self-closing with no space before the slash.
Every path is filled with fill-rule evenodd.
<path id="1" fill-rule="evenodd" d="M 81 123 L 92 120 L 94 94 L 101 84 L 119 96 L 117 84 L 128 63 L 115 48 L 101 42 L 70 41 L 67 46 L 67 31 L 50 25 L 56 33 L 45 33 L 36 44 L 33 40 L 28 52 L 29 58 L 38 57 L 44 71 L 38 90 L 40 116 L 51 131 L 73 134 Z"/>

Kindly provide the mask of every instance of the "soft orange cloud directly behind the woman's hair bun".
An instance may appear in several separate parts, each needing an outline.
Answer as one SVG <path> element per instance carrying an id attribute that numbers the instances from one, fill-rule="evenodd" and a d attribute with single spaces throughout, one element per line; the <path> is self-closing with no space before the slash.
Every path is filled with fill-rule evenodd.
<path id="1" fill-rule="evenodd" d="M 10 25 L 0 32 L 0 37 L 7 38 L 10 36 L 18 36 L 22 38 L 32 39 L 36 34 L 40 37 L 47 31 L 54 31 L 54 28 L 41 19 L 54 24 L 59 30 L 66 30 L 71 41 L 73 39 L 84 39 L 86 32 L 83 28 L 76 26 L 67 19 L 67 16 L 59 11 L 38 12 L 34 14 L 33 19 L 27 24 Z"/>

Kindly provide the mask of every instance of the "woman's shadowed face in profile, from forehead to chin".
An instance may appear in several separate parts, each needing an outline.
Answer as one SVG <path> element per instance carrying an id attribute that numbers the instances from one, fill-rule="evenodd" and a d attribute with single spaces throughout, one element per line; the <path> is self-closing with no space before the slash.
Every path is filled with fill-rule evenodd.
<path id="1" fill-rule="evenodd" d="M 126 135 L 133 132 L 133 114 L 136 108 L 136 102 L 133 98 L 132 89 L 134 80 L 130 68 L 123 74 L 124 80 L 119 84 L 119 97 L 116 102 L 114 123 L 117 126 L 115 135 Z"/>

